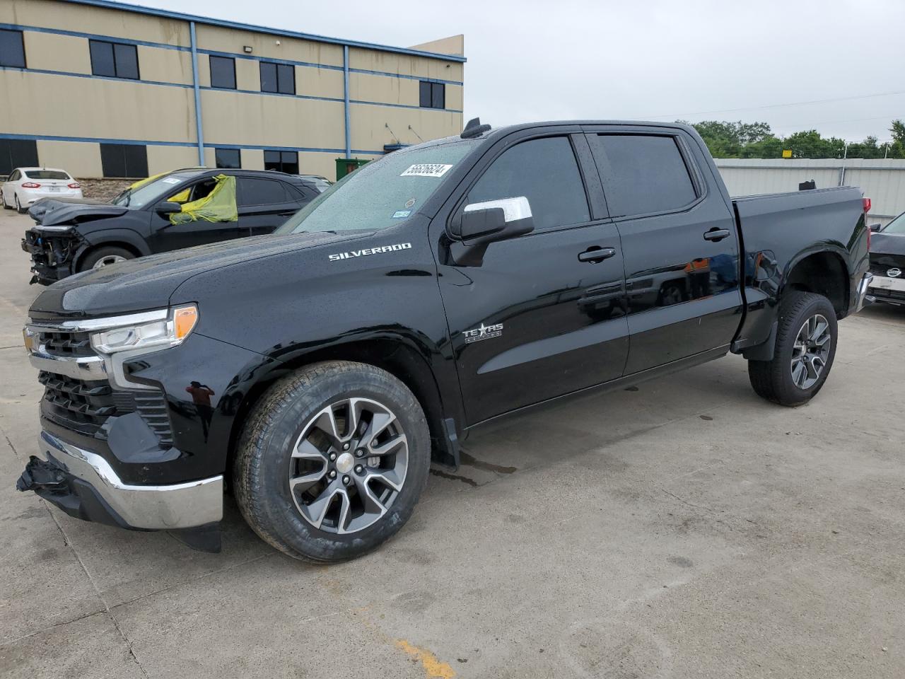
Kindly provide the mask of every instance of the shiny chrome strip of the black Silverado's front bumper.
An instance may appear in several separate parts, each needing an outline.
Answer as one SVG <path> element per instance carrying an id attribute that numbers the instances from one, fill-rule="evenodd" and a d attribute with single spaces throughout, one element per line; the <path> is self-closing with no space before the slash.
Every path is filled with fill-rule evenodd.
<path id="1" fill-rule="evenodd" d="M 171 485 L 131 485 L 123 483 L 99 454 L 44 431 L 38 437 L 38 456 L 90 483 L 133 528 L 170 531 L 223 519 L 223 475 Z"/>

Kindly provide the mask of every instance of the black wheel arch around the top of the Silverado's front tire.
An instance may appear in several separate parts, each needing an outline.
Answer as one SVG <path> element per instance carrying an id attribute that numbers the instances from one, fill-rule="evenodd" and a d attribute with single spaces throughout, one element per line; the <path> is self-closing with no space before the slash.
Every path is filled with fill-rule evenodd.
<path id="1" fill-rule="evenodd" d="M 386 370 L 408 387 L 424 409 L 431 435 L 433 461 L 447 466 L 458 463 L 457 435 L 448 431 L 449 407 L 443 402 L 440 385 L 428 359 L 414 341 L 402 336 L 349 339 L 330 346 L 294 352 L 291 359 L 272 361 L 245 392 L 233 416 L 226 452 L 226 473 L 232 473 L 233 459 L 244 423 L 252 408 L 278 379 L 299 368 L 330 360 L 366 363 Z"/>

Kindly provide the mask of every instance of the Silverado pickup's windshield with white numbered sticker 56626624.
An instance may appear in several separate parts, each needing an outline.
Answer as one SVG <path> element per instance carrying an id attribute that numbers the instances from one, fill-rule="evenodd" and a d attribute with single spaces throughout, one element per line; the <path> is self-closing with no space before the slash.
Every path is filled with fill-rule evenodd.
<path id="1" fill-rule="evenodd" d="M 374 160 L 312 200 L 275 234 L 374 231 L 404 222 L 480 139 L 395 151 Z"/>

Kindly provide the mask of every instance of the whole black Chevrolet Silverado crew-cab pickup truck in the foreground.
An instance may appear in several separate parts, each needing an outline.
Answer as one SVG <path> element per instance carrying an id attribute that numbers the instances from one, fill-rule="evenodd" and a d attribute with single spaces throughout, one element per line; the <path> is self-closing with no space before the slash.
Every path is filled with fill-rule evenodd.
<path id="1" fill-rule="evenodd" d="M 277 549 L 353 558 L 493 418 L 729 351 L 757 394 L 805 403 L 868 261 L 859 189 L 733 200 L 689 127 L 472 120 L 275 235 L 42 292 L 24 330 L 42 432 L 19 488 L 217 550 L 232 487 Z"/>

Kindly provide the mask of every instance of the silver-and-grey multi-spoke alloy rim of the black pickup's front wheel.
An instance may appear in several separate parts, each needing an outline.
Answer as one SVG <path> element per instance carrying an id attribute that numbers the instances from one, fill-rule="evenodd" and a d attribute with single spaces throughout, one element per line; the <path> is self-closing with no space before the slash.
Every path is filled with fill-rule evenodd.
<path id="1" fill-rule="evenodd" d="M 292 448 L 289 488 L 301 516 L 321 531 L 364 531 L 405 483 L 408 441 L 390 408 L 345 398 L 323 408 Z"/>

